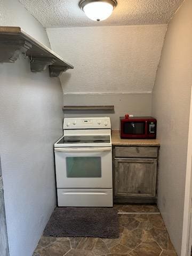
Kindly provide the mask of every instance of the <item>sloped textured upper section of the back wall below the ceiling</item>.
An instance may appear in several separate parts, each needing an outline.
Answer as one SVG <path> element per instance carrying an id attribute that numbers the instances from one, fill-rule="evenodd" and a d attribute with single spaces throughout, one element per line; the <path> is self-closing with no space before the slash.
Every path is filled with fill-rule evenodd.
<path id="1" fill-rule="evenodd" d="M 47 29 L 52 49 L 75 69 L 63 92 L 151 92 L 166 25 Z"/>

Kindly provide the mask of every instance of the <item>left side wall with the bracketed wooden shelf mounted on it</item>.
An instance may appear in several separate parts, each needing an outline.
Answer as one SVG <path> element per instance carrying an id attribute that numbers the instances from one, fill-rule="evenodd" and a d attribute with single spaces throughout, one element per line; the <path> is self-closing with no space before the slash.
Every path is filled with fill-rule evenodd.
<path id="1" fill-rule="evenodd" d="M 18 1 L 1 1 L 0 26 L 21 26 L 49 45 Z M 0 64 L 0 154 L 10 256 L 31 256 L 55 206 L 53 143 L 62 134 L 63 94 L 28 60 Z M 1 254 L 1 253 L 0 253 Z"/>

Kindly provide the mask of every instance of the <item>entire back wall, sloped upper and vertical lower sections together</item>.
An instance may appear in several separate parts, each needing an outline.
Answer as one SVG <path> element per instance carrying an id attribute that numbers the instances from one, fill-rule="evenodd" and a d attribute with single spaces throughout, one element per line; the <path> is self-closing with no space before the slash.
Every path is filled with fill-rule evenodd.
<path id="1" fill-rule="evenodd" d="M 70 111 L 65 116 L 151 114 L 151 91 L 166 25 L 48 28 L 52 49 L 75 69 L 61 76 L 65 105 L 115 105 L 115 113 Z M 146 94 L 149 93 L 149 94 Z"/>

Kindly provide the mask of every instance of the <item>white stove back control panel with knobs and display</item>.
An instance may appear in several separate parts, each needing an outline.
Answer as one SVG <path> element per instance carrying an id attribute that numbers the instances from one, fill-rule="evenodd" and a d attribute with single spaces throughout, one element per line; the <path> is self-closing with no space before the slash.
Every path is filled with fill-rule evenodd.
<path id="1" fill-rule="evenodd" d="M 109 117 L 78 117 L 78 118 L 64 118 L 64 130 L 75 129 L 111 129 Z"/>

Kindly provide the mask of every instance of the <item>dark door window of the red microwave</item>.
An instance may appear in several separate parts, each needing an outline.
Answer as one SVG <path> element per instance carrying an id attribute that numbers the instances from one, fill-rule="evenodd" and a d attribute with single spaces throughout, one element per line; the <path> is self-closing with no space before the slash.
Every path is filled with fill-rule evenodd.
<path id="1" fill-rule="evenodd" d="M 145 122 L 124 123 L 125 134 L 145 134 Z"/>

